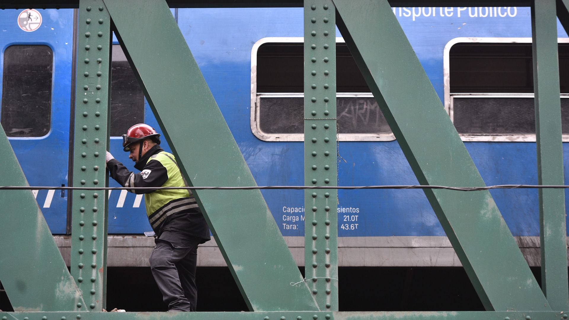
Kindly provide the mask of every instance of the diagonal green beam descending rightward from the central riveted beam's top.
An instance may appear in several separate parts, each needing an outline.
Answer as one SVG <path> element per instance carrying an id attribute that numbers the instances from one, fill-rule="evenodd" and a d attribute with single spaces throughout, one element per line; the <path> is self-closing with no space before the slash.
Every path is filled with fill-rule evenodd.
<path id="1" fill-rule="evenodd" d="M 484 186 L 386 0 L 336 21 L 420 184 Z M 486 310 L 551 310 L 488 191 L 424 190 Z"/>

